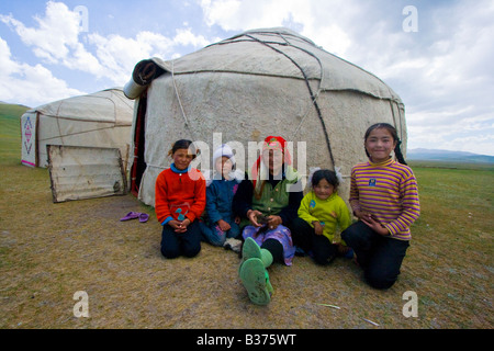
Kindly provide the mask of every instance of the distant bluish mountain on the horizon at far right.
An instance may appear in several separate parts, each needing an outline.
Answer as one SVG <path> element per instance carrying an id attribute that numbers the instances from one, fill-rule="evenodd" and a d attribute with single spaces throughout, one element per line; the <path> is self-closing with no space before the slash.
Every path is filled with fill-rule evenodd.
<path id="1" fill-rule="evenodd" d="M 448 161 L 467 163 L 494 163 L 494 156 L 478 155 L 463 151 L 411 149 L 406 159 L 420 161 Z"/>

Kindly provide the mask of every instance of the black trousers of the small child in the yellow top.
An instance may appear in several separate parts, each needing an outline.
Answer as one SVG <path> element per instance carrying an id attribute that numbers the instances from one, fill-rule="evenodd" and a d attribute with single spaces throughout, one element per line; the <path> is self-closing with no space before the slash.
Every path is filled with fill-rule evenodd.
<path id="1" fill-rule="evenodd" d="M 305 252 L 312 251 L 317 264 L 328 264 L 335 259 L 338 253 L 336 245 L 333 245 L 324 235 L 316 235 L 308 223 L 296 217 L 291 226 L 293 244 Z"/>

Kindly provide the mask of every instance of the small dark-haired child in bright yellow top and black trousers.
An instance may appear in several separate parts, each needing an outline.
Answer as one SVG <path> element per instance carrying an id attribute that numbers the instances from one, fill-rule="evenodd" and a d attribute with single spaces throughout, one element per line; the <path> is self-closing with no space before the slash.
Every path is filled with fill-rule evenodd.
<path id="1" fill-rule="evenodd" d="M 293 231 L 304 242 L 302 249 L 312 251 L 314 261 L 328 264 L 339 253 L 351 258 L 351 249 L 346 246 L 337 233 L 351 224 L 350 211 L 338 195 L 338 178 L 334 171 L 319 169 L 311 181 L 312 190 L 304 196 L 299 207 L 299 218 Z M 339 227 L 339 228 L 338 228 Z"/>

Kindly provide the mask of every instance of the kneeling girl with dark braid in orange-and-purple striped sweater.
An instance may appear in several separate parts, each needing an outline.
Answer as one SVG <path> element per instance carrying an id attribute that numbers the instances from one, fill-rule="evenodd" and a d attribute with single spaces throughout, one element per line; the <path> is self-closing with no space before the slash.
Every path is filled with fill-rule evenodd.
<path id="1" fill-rule="evenodd" d="M 397 280 L 412 238 L 409 226 L 420 214 L 417 181 L 400 143 L 392 125 L 370 126 L 364 136 L 369 161 L 351 170 L 350 205 L 359 220 L 341 238 L 377 288 L 389 288 Z M 391 157 L 393 150 L 400 162 Z"/>

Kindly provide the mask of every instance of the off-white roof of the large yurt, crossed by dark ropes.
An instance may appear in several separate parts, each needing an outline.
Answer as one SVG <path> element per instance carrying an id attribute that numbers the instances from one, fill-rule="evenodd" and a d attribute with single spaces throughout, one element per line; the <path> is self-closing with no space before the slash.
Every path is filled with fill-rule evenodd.
<path id="1" fill-rule="evenodd" d="M 353 90 L 402 103 L 400 97 L 374 75 L 284 27 L 247 31 L 176 60 L 153 60 L 173 75 L 237 72 L 316 79 L 321 81 L 319 91 Z"/>

